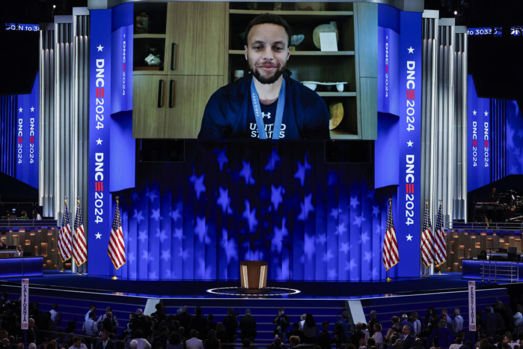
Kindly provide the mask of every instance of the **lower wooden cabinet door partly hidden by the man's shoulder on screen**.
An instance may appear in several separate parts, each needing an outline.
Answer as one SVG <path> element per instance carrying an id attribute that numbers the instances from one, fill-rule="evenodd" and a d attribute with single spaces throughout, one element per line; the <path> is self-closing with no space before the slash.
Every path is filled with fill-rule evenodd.
<path id="1" fill-rule="evenodd" d="M 165 138 L 196 138 L 209 97 L 223 76 L 168 76 Z"/>

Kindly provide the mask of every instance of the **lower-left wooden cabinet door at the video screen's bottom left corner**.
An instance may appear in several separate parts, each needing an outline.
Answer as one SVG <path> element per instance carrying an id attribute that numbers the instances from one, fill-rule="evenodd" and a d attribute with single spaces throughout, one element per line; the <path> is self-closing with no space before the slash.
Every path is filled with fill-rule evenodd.
<path id="1" fill-rule="evenodd" d="M 166 75 L 133 75 L 132 85 L 132 137 L 164 138 Z"/>

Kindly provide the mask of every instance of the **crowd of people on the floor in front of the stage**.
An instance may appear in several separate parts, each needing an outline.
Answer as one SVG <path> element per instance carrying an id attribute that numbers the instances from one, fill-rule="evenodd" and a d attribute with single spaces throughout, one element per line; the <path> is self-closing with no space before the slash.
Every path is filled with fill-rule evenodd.
<path id="1" fill-rule="evenodd" d="M 0 310 L 0 349 L 25 349 L 19 301 L 9 300 L 4 294 Z M 344 311 L 329 331 L 331 323 L 317 324 L 310 313 L 302 314 L 291 325 L 285 309 L 280 308 L 272 320 L 274 341 L 268 349 L 519 349 L 523 345 L 522 311 L 518 306 L 513 313 L 498 301 L 476 313 L 477 331 L 471 333 L 463 328 L 458 308 L 451 313 L 441 309 L 439 314 L 428 308 L 424 318 L 417 312 L 401 312 L 384 324 L 386 331 L 376 311 L 370 312 L 368 323 L 355 324 Z M 142 309 L 131 312 L 127 326 L 120 331 L 120 322 L 110 306 L 97 316 L 96 306 L 91 305 L 83 319 L 82 336 L 75 335 L 76 320 L 60 327 L 61 313 L 56 304 L 49 311 L 41 311 L 33 302 L 29 317 L 28 349 L 222 349 L 222 345 L 235 345 L 238 340 L 243 349 L 259 347 L 256 320 L 249 309 L 240 315 L 229 308 L 220 322 L 212 314 L 204 316 L 200 307 L 193 314 L 187 306 L 177 309 L 176 314 L 166 314 L 158 303 L 150 315 Z M 475 343 L 471 342 L 473 338 Z"/>

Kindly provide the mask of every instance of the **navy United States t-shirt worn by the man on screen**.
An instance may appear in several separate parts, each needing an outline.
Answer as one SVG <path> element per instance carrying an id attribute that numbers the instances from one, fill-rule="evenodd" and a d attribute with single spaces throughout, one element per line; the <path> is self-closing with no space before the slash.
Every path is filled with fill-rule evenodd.
<path id="1" fill-rule="evenodd" d="M 285 76 L 285 109 L 280 139 L 329 139 L 329 114 L 323 99 L 310 88 Z M 251 100 L 252 76 L 220 87 L 209 98 L 201 121 L 199 139 L 259 138 Z M 272 138 L 278 100 L 261 104 L 267 131 Z"/>

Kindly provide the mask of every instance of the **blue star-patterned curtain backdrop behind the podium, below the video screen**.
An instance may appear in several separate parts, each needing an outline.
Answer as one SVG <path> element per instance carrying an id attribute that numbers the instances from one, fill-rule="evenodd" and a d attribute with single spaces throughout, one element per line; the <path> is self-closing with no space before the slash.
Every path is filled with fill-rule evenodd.
<path id="1" fill-rule="evenodd" d="M 215 279 L 219 265 L 235 280 L 240 261 L 259 259 L 269 279 L 286 280 L 289 261 L 293 280 L 385 277 L 396 187 L 372 190 L 371 164 L 325 163 L 323 142 L 185 145 L 184 163 L 140 163 L 137 188 L 117 193 L 127 249 L 117 275 Z"/>

